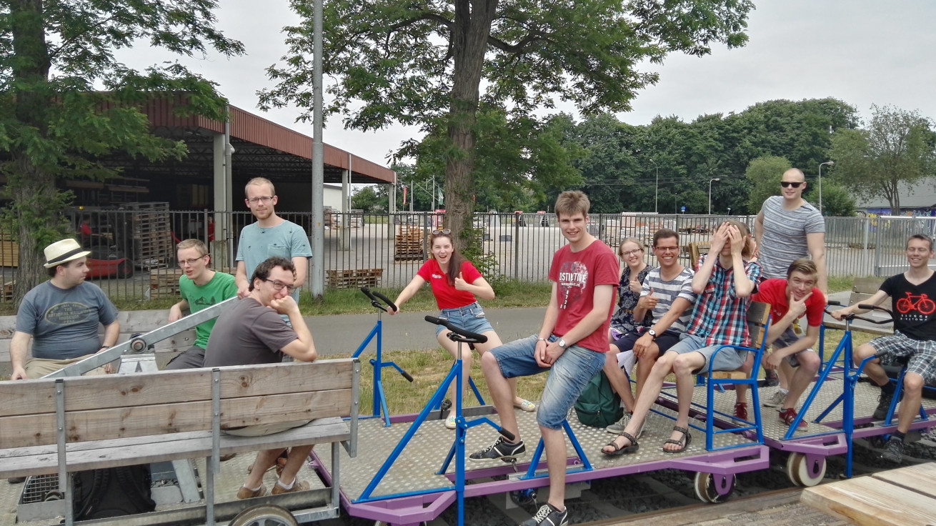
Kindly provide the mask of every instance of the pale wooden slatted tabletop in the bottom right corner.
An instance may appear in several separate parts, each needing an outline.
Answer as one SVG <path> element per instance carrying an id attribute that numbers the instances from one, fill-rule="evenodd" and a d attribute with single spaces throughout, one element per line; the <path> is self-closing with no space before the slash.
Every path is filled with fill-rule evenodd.
<path id="1" fill-rule="evenodd" d="M 928 526 L 936 523 L 936 463 L 821 484 L 799 500 L 851 524 Z"/>

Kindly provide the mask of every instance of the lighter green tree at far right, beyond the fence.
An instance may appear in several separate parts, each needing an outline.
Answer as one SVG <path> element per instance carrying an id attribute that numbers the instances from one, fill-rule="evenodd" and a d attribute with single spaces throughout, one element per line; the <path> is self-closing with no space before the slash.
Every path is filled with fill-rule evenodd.
<path id="1" fill-rule="evenodd" d="M 842 130 L 832 139 L 832 177 L 860 197 L 884 196 L 900 211 L 899 184 L 913 187 L 936 175 L 933 122 L 918 111 L 871 106 L 864 129 Z"/>

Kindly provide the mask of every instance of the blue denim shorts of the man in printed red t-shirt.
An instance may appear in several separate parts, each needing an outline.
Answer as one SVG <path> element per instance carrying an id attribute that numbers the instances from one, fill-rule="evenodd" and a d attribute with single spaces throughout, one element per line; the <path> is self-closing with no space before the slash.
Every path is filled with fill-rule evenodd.
<path id="1" fill-rule="evenodd" d="M 546 386 L 543 387 L 543 396 L 536 409 L 536 422 L 544 428 L 560 430 L 569 409 L 572 409 L 572 405 L 578 400 L 578 395 L 605 365 L 605 353 L 570 345 L 552 367 L 540 367 L 534 358 L 538 338 L 534 334 L 529 338 L 495 347 L 490 352 L 497 358 L 497 364 L 505 378 L 549 372 Z M 549 336 L 550 342 L 556 340 L 555 336 Z"/>

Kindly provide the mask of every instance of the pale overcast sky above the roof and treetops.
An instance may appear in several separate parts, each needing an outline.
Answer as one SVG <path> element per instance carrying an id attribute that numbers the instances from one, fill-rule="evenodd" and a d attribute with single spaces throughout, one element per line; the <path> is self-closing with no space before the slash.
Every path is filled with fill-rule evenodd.
<path id="1" fill-rule="evenodd" d="M 936 118 L 936 2 L 929 0 L 755 0 L 746 47 L 716 47 L 697 58 L 670 55 L 663 66 L 646 65 L 660 81 L 640 92 L 634 110 L 618 118 L 649 124 L 656 115 L 684 121 L 708 113 L 739 112 L 770 99 L 833 96 L 856 106 L 890 104 Z M 297 17 L 284 0 L 224 0 L 218 26 L 243 42 L 247 54 L 227 60 L 189 61 L 220 84 L 231 104 L 312 136 L 291 108 L 261 112 L 256 91 L 272 87 L 265 68 L 285 54 L 281 29 Z M 131 66 L 158 60 L 139 48 L 122 54 Z M 573 107 L 561 110 L 574 111 Z M 332 117 L 326 143 L 380 164 L 418 130 L 394 126 L 375 133 L 344 130 Z"/>

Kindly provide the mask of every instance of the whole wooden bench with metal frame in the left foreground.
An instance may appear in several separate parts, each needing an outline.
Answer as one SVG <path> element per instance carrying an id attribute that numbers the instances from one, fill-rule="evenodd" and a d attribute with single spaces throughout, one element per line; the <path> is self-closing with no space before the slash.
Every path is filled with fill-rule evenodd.
<path id="1" fill-rule="evenodd" d="M 66 472 L 206 457 L 206 504 L 195 508 L 196 519 L 213 524 L 223 519 L 213 503 L 220 455 L 331 444 L 332 487 L 320 490 L 327 498 L 317 513 L 337 517 L 338 444 L 356 456 L 358 375 L 358 360 L 348 358 L 0 382 L 0 478 L 57 473 L 64 480 Z M 221 432 L 305 419 L 314 421 L 267 436 Z M 264 502 L 225 504 L 222 514 Z M 154 512 L 168 518 L 153 523 L 179 523 L 192 509 Z"/>

